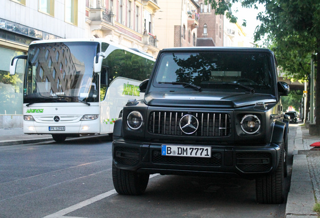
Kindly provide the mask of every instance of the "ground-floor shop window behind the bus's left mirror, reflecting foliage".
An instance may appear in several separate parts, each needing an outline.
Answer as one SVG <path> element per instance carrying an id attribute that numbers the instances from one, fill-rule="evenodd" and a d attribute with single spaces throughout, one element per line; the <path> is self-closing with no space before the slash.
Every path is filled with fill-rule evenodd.
<path id="1" fill-rule="evenodd" d="M 10 75 L 13 57 L 25 52 L 0 47 L 0 115 L 22 115 L 24 60 L 20 60 L 16 75 Z"/>

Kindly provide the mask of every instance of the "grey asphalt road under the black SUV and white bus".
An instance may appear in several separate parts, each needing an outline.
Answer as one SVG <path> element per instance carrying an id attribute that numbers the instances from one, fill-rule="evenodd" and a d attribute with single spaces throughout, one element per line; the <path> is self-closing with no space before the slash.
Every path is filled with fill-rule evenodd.
<path id="1" fill-rule="evenodd" d="M 111 163 L 108 136 L 2 146 L 0 217 L 284 217 L 285 203 L 256 202 L 254 180 L 152 175 L 144 195 L 118 195 Z"/>

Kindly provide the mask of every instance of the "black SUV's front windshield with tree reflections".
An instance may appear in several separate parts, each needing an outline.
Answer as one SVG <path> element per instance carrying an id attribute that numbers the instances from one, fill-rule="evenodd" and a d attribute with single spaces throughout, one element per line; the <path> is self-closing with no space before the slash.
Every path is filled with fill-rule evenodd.
<path id="1" fill-rule="evenodd" d="M 155 87 L 188 88 L 177 84 L 188 83 L 203 91 L 274 94 L 275 90 L 274 69 L 267 53 L 165 53 L 158 66 Z"/>

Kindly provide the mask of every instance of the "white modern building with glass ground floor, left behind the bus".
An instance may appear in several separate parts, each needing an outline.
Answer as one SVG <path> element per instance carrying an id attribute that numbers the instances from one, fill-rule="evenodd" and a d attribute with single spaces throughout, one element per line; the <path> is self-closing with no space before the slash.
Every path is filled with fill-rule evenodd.
<path id="1" fill-rule="evenodd" d="M 0 128 L 22 127 L 23 69 L 9 75 L 13 57 L 34 40 L 86 35 L 85 0 L 2 0 L 0 7 Z"/>

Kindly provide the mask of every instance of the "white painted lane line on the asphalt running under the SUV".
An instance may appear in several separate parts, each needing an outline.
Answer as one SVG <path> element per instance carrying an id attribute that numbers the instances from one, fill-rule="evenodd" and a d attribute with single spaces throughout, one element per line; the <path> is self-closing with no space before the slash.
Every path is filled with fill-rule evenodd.
<path id="1" fill-rule="evenodd" d="M 152 174 L 152 175 L 150 175 L 149 179 L 151 179 L 152 177 L 155 177 L 157 175 L 159 175 L 159 174 Z M 115 193 L 117 193 L 117 191 L 115 189 L 107 191 L 105 193 L 102 193 L 102 194 L 97 195 L 95 197 L 92 197 L 90 199 L 84 200 L 80 203 L 77 203 L 77 204 L 74 204 L 74 205 L 69 206 L 67 208 L 64 208 L 62 210 L 59 210 L 58 212 L 44 216 L 43 218 L 67 218 L 67 216 L 63 216 L 63 215 L 70 213 L 70 212 L 73 212 L 74 210 L 80 209 L 82 207 L 88 206 L 89 204 L 95 203 L 95 202 L 102 200 L 106 197 L 109 197 Z"/>

